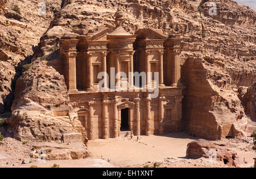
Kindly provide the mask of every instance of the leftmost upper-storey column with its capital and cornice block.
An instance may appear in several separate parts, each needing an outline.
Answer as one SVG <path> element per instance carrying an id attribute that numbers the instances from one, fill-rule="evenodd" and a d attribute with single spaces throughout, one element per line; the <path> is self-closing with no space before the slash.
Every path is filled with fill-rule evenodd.
<path id="1" fill-rule="evenodd" d="M 67 37 L 71 38 L 71 37 Z M 73 37 L 75 38 L 75 37 Z M 76 92 L 76 44 L 79 42 L 77 39 L 61 39 L 60 52 L 65 57 L 64 74 L 65 81 L 69 92 Z"/>

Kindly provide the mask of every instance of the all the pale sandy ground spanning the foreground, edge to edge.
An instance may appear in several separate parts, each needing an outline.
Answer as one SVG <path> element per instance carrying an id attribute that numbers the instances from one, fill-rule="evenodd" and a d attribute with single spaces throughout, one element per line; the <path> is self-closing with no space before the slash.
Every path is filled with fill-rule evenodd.
<path id="1" fill-rule="evenodd" d="M 105 168 L 105 167 L 153 167 L 155 162 L 160 163 L 160 167 L 166 168 L 226 168 L 223 162 L 212 162 L 209 159 L 201 158 L 197 160 L 186 159 L 187 144 L 197 138 L 190 137 L 185 133 L 167 134 L 163 136 L 151 135 L 150 137 L 131 136 L 116 139 L 97 139 L 89 141 L 88 148 L 94 157 L 80 160 L 53 160 L 46 163 L 39 163 L 36 159 L 31 159 L 28 164 L 22 164 L 23 159 L 30 157 L 32 145 L 28 142 L 22 144 L 18 140 L 6 138 L 0 144 L 0 168 L 16 167 L 29 168 L 31 166 L 48 168 L 57 164 L 60 168 Z M 240 167 L 250 168 L 254 165 L 253 158 L 256 152 L 252 150 L 253 142 L 247 139 L 227 139 L 224 142 L 230 146 L 230 150 L 237 152 Z M 53 144 L 56 142 L 53 142 Z M 47 142 L 42 142 L 49 145 Z M 59 144 L 67 147 L 67 144 Z M 108 159 L 110 160 L 108 162 Z"/>

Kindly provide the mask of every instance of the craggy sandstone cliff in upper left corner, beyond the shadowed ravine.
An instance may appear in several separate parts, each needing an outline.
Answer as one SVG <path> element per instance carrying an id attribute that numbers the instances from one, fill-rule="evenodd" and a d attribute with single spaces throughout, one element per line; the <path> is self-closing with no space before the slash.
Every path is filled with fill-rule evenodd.
<path id="1" fill-rule="evenodd" d="M 49 27 L 60 2 L 45 1 L 47 14 L 38 15 L 38 1 L 0 0 L 0 114 L 10 110 L 19 63 L 34 53 L 34 47 Z M 16 11 L 14 11 L 14 7 Z M 24 65 L 20 64 L 20 65 Z"/>

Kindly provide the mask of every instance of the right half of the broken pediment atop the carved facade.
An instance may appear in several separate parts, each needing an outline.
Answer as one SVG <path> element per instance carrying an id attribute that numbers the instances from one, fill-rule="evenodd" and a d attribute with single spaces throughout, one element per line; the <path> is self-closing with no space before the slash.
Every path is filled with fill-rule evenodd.
<path id="1" fill-rule="evenodd" d="M 160 29 L 143 28 L 135 32 L 137 39 L 141 40 L 166 40 L 167 37 L 163 35 Z"/>

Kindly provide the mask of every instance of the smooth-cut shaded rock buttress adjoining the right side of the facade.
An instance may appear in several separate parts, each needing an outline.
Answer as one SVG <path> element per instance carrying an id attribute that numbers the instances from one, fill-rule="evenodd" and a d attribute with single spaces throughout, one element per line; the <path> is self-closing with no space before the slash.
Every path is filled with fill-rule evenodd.
<path id="1" fill-rule="evenodd" d="M 247 118 L 236 93 L 221 89 L 222 74 L 209 69 L 198 57 L 188 58 L 181 73 L 187 89 L 183 99 L 183 123 L 190 135 L 209 140 L 245 135 Z"/>

